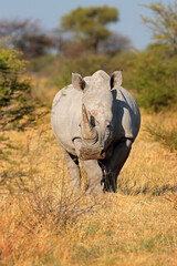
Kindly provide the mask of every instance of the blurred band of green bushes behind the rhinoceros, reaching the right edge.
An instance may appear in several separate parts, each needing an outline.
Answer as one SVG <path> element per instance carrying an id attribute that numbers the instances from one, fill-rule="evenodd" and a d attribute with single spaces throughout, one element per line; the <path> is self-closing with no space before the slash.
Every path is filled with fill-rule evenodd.
<path id="1" fill-rule="evenodd" d="M 167 111 L 177 104 L 177 54 L 168 44 L 156 43 L 143 52 L 134 50 L 114 57 L 92 52 L 83 52 L 75 58 L 43 57 L 33 60 L 32 65 L 33 71 L 50 76 L 51 86 L 59 89 L 71 84 L 72 72 L 86 76 L 100 69 L 108 74 L 123 70 L 123 86 L 147 111 Z"/>

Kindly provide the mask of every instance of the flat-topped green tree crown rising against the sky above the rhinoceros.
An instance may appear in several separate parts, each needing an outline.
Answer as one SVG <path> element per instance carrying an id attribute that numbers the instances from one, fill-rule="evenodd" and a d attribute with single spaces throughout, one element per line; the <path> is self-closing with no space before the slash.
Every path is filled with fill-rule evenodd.
<path id="1" fill-rule="evenodd" d="M 75 39 L 84 47 L 97 51 L 100 42 L 107 40 L 112 33 L 107 29 L 107 24 L 117 20 L 118 11 L 116 8 L 107 6 L 80 7 L 62 17 L 61 28 L 63 31 L 74 33 Z"/>

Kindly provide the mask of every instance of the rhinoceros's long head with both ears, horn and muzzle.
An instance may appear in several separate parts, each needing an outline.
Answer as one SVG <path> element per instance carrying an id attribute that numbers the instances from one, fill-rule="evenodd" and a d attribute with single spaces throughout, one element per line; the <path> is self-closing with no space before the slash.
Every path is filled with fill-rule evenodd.
<path id="1" fill-rule="evenodd" d="M 113 95 L 111 90 L 122 83 L 122 72 L 115 71 L 112 76 L 100 70 L 92 76 L 82 79 L 77 73 L 72 75 L 72 84 L 82 90 L 82 160 L 103 160 L 113 139 Z"/>

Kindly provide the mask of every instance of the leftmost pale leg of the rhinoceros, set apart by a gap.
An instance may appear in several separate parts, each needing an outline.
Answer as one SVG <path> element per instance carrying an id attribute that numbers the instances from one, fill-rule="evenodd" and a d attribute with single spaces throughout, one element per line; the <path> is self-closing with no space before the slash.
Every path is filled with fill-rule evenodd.
<path id="1" fill-rule="evenodd" d="M 81 191 L 81 172 L 79 158 L 64 151 L 65 163 L 70 174 L 70 187 L 74 191 Z"/>

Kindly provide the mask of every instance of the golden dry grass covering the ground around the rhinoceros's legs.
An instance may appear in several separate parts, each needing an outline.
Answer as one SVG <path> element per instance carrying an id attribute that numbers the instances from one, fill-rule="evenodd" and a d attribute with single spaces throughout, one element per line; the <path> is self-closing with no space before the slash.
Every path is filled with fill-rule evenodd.
<path id="1" fill-rule="evenodd" d="M 164 119 L 167 125 L 176 120 Z M 15 149 L 1 161 L 0 265 L 175 266 L 176 154 L 143 130 L 159 120 L 143 114 L 118 193 L 98 196 L 67 190 L 49 122 L 37 131 L 10 132 Z"/>

